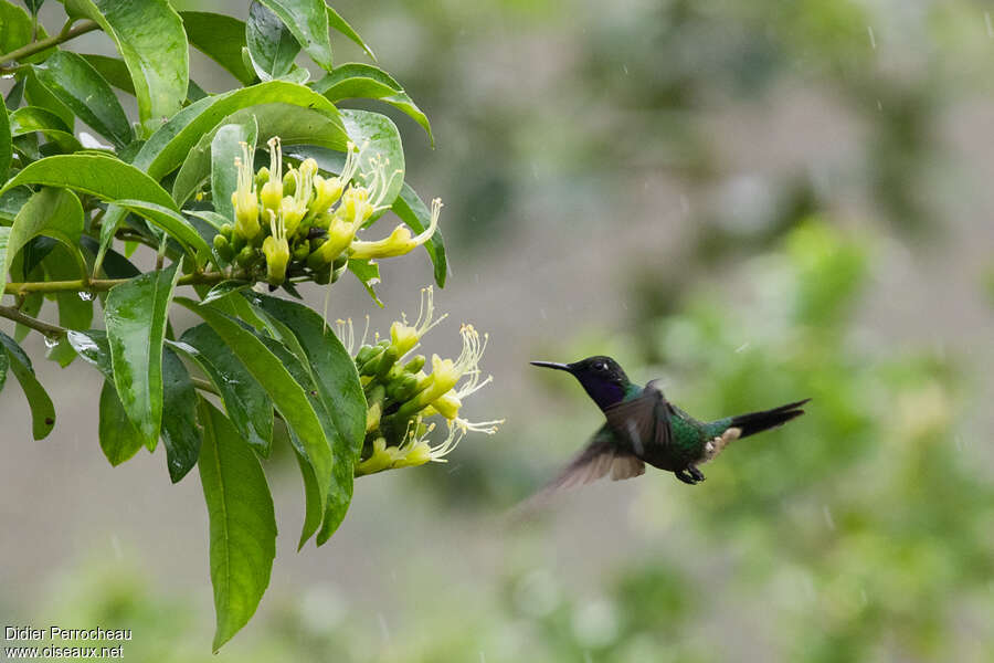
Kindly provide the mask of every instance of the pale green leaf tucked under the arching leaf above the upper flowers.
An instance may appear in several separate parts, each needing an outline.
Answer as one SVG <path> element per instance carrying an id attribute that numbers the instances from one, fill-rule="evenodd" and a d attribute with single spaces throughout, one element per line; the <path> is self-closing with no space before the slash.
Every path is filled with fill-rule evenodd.
<path id="1" fill-rule="evenodd" d="M 324 141 L 326 137 L 335 137 L 339 118 L 332 119 L 322 112 L 292 104 L 265 104 L 233 113 L 225 118 L 223 126 L 253 122 L 257 122 L 258 143 L 279 136 L 283 145 L 293 145 Z M 209 177 L 214 136 L 213 131 L 205 134 L 183 161 L 172 188 L 172 196 L 178 204 L 189 200 Z"/>

